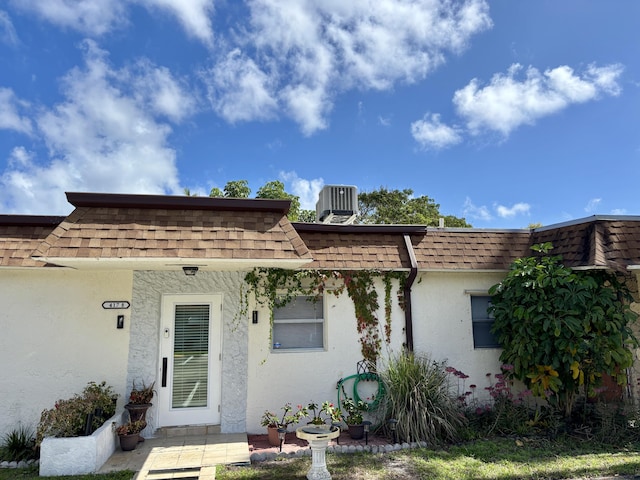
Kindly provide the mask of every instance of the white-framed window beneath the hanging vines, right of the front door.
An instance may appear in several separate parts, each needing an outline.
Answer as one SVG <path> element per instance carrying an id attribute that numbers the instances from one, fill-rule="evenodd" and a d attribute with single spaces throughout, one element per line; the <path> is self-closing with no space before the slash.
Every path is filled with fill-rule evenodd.
<path id="1" fill-rule="evenodd" d="M 273 311 L 273 348 L 324 348 L 322 299 L 298 296 Z"/>

